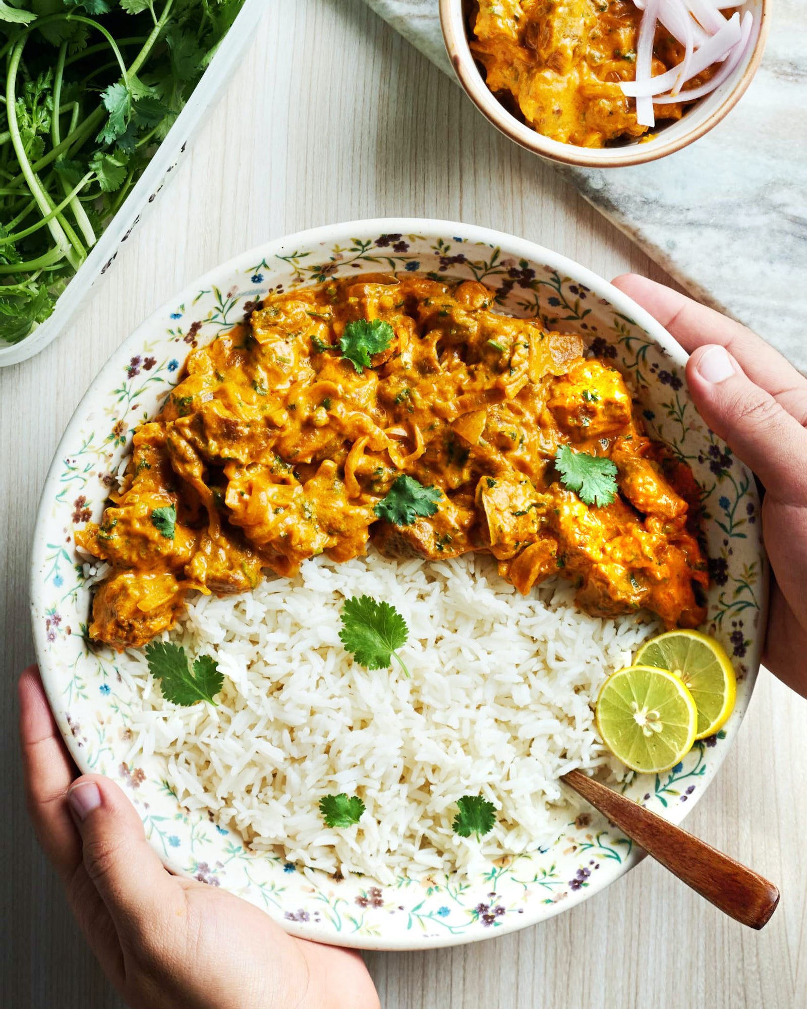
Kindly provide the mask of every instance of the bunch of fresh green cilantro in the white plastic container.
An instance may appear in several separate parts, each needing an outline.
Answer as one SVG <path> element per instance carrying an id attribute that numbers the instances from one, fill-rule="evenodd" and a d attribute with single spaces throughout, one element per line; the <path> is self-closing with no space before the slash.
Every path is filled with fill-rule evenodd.
<path id="1" fill-rule="evenodd" d="M 244 0 L 0 0 L 0 340 L 53 311 Z"/>

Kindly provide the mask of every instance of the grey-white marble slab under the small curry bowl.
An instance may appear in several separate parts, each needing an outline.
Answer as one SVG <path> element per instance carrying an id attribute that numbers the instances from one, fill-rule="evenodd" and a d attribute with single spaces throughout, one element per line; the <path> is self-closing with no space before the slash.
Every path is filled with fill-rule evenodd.
<path id="1" fill-rule="evenodd" d="M 454 77 L 437 0 L 366 0 Z M 807 9 L 774 0 L 763 65 L 710 133 L 627 169 L 557 165 L 687 290 L 807 370 Z"/>

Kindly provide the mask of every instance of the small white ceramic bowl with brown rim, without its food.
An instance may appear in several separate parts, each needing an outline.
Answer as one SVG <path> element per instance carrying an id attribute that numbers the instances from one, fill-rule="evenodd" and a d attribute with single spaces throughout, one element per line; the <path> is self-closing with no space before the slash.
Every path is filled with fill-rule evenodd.
<path id="1" fill-rule="evenodd" d="M 480 66 L 471 52 L 468 40 L 469 0 L 439 2 L 449 59 L 460 84 L 482 115 L 510 140 L 528 150 L 554 161 L 588 169 L 644 164 L 681 150 L 708 133 L 731 111 L 751 84 L 763 58 L 770 21 L 768 0 L 745 0 L 737 4 L 740 12 L 752 11 L 754 14 L 751 45 L 730 77 L 706 98 L 696 102 L 678 122 L 664 126 L 650 140 L 633 140 L 614 147 L 578 147 L 544 136 L 507 111 L 488 89 Z"/>

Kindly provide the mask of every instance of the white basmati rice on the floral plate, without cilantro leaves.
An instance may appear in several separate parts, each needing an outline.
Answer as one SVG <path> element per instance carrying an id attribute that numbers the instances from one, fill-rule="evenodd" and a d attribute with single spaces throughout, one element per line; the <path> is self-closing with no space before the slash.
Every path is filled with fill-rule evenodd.
<path id="1" fill-rule="evenodd" d="M 364 669 L 343 648 L 342 603 L 362 594 L 407 621 L 412 679 L 394 663 Z M 307 561 L 246 595 L 199 596 L 170 637 L 216 658 L 218 706 L 167 703 L 131 653 L 142 699 L 132 753 L 164 758 L 183 805 L 212 811 L 253 849 L 381 883 L 476 872 L 557 836 L 574 815 L 562 774 L 610 766 L 591 702 L 657 626 L 587 616 L 573 594 L 548 583 L 524 598 L 489 557 L 371 551 Z M 329 829 L 318 803 L 339 792 L 366 811 Z M 452 830 L 457 799 L 478 793 L 497 814 L 481 842 Z"/>

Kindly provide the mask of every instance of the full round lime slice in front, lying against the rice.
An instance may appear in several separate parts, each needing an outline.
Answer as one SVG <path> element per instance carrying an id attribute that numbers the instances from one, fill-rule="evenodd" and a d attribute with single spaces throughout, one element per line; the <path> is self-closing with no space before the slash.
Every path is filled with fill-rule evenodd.
<path id="1" fill-rule="evenodd" d="M 612 673 L 597 697 L 602 742 L 633 771 L 669 771 L 695 742 L 698 710 L 679 677 L 655 666 Z"/>

